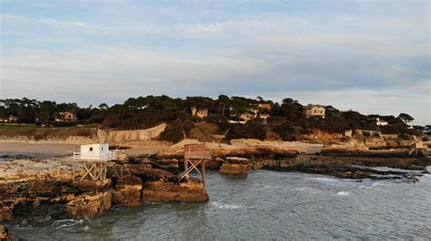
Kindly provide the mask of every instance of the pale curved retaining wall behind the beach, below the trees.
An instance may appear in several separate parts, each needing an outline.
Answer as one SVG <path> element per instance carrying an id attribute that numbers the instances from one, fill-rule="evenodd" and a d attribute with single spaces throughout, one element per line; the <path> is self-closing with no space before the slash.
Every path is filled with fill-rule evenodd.
<path id="1" fill-rule="evenodd" d="M 119 143 L 130 140 L 152 140 L 165 131 L 166 124 L 145 130 L 97 130 L 97 138 L 101 142 Z"/>

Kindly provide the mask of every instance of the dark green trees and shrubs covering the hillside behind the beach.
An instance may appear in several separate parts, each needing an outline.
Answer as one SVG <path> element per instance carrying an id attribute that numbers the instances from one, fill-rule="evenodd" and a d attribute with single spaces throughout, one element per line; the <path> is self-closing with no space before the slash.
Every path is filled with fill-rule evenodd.
<path id="1" fill-rule="evenodd" d="M 271 108 L 263 108 L 262 105 Z M 206 110 L 208 116 L 192 116 L 192 110 Z M 57 122 L 55 117 L 60 112 L 75 113 L 74 122 Z M 246 124 L 235 123 L 244 116 L 255 116 Z M 259 115 L 269 115 L 266 120 L 259 119 Z M 56 103 L 55 101 L 36 101 L 23 98 L 0 100 L 0 117 L 17 117 L 18 123 L 30 125 L 0 126 L 3 135 L 33 135 L 36 137 L 49 136 L 52 128 L 61 135 L 78 136 L 91 135 L 91 127 L 111 129 L 146 129 L 162 122 L 168 127 L 162 133 L 161 140 L 178 141 L 190 135 L 196 123 L 205 120 L 216 125 L 221 133 L 229 130 L 228 139 L 253 138 L 264 140 L 267 133 L 278 136 L 282 140 L 297 140 L 301 135 L 311 130 L 324 130 L 330 133 L 344 133 L 345 130 L 381 130 L 383 133 L 416 134 L 417 130 L 408 129 L 406 125 L 413 117 L 406 113 L 394 116 L 363 115 L 357 111 L 339 111 L 333 106 L 326 106 L 326 118 L 306 118 L 305 106 L 291 98 L 281 103 L 264 100 L 262 97 L 249 99 L 240 96 L 228 97 L 220 95 L 216 100 L 207 97 L 186 97 L 173 99 L 166 95 L 129 98 L 122 104 L 109 107 L 101 103 L 98 107 L 78 107 L 76 103 Z M 384 127 L 376 126 L 376 118 L 388 121 Z M 229 121 L 232 120 L 232 121 Z M 77 124 L 87 128 L 77 128 Z M 62 132 L 63 131 L 63 132 Z M 199 132 L 200 131 L 200 132 Z M 192 131 L 201 135 L 202 130 Z M 416 131 L 416 132 L 415 132 Z M 63 133 L 63 134 L 62 134 Z"/>

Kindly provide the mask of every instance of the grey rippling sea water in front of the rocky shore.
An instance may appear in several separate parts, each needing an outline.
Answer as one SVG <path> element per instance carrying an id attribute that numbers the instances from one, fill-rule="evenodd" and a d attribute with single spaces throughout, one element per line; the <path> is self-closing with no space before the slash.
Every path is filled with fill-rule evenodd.
<path id="1" fill-rule="evenodd" d="M 10 227 L 27 239 L 429 239 L 431 175 L 419 182 L 210 171 L 206 203 L 115 207 L 102 217 Z"/>

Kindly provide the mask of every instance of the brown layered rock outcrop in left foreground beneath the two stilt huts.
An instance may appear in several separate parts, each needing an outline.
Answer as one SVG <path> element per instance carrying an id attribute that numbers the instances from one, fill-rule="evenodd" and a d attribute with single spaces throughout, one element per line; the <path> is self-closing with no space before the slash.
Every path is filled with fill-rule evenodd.
<path id="1" fill-rule="evenodd" d="M 199 181 L 178 183 L 171 172 L 145 163 L 127 167 L 131 175 L 125 178 L 118 178 L 111 170 L 103 181 L 73 181 L 70 159 L 2 162 L 0 221 L 44 225 L 56 219 L 97 217 L 115 205 L 208 199 Z"/>

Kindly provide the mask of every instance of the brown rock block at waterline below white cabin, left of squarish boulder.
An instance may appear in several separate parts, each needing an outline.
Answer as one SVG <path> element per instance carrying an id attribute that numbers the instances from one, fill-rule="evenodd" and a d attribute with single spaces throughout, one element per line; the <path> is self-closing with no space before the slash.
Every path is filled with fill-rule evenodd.
<path id="1" fill-rule="evenodd" d="M 75 218 L 97 217 L 112 206 L 112 190 L 98 192 L 94 195 L 84 194 L 67 203 L 67 213 Z"/>

